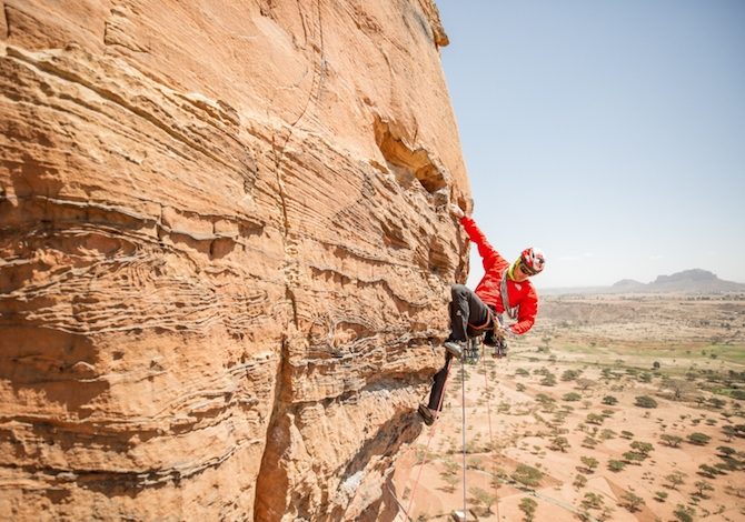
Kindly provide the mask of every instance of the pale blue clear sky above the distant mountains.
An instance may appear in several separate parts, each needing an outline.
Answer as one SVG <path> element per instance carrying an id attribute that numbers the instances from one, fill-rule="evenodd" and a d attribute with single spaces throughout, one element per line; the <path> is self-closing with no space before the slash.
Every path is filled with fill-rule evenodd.
<path id="1" fill-rule="evenodd" d="M 745 282 L 745 1 L 437 6 L 474 218 L 539 289 Z"/>

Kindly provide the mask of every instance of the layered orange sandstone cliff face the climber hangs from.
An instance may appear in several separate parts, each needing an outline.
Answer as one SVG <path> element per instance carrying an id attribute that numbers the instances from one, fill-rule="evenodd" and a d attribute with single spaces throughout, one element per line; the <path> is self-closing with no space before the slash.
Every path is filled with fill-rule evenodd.
<path id="1" fill-rule="evenodd" d="M 0 0 L 0 519 L 391 516 L 466 272 L 446 43 L 431 0 Z"/>

